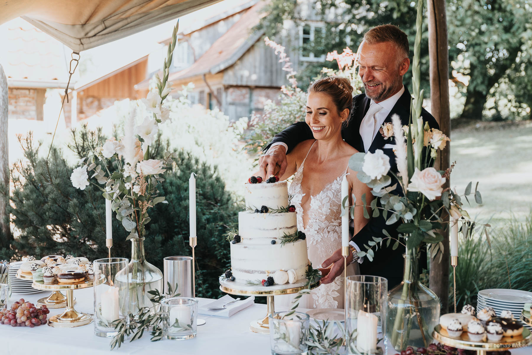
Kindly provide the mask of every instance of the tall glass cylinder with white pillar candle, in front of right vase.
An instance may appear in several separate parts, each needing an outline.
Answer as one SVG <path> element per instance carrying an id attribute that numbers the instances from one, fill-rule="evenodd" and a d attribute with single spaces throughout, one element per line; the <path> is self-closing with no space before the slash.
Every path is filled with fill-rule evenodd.
<path id="1" fill-rule="evenodd" d="M 388 280 L 379 276 L 348 276 L 345 293 L 347 353 L 386 354 Z M 351 337 L 354 332 L 357 335 Z M 381 338 L 383 342 L 377 344 Z"/>

